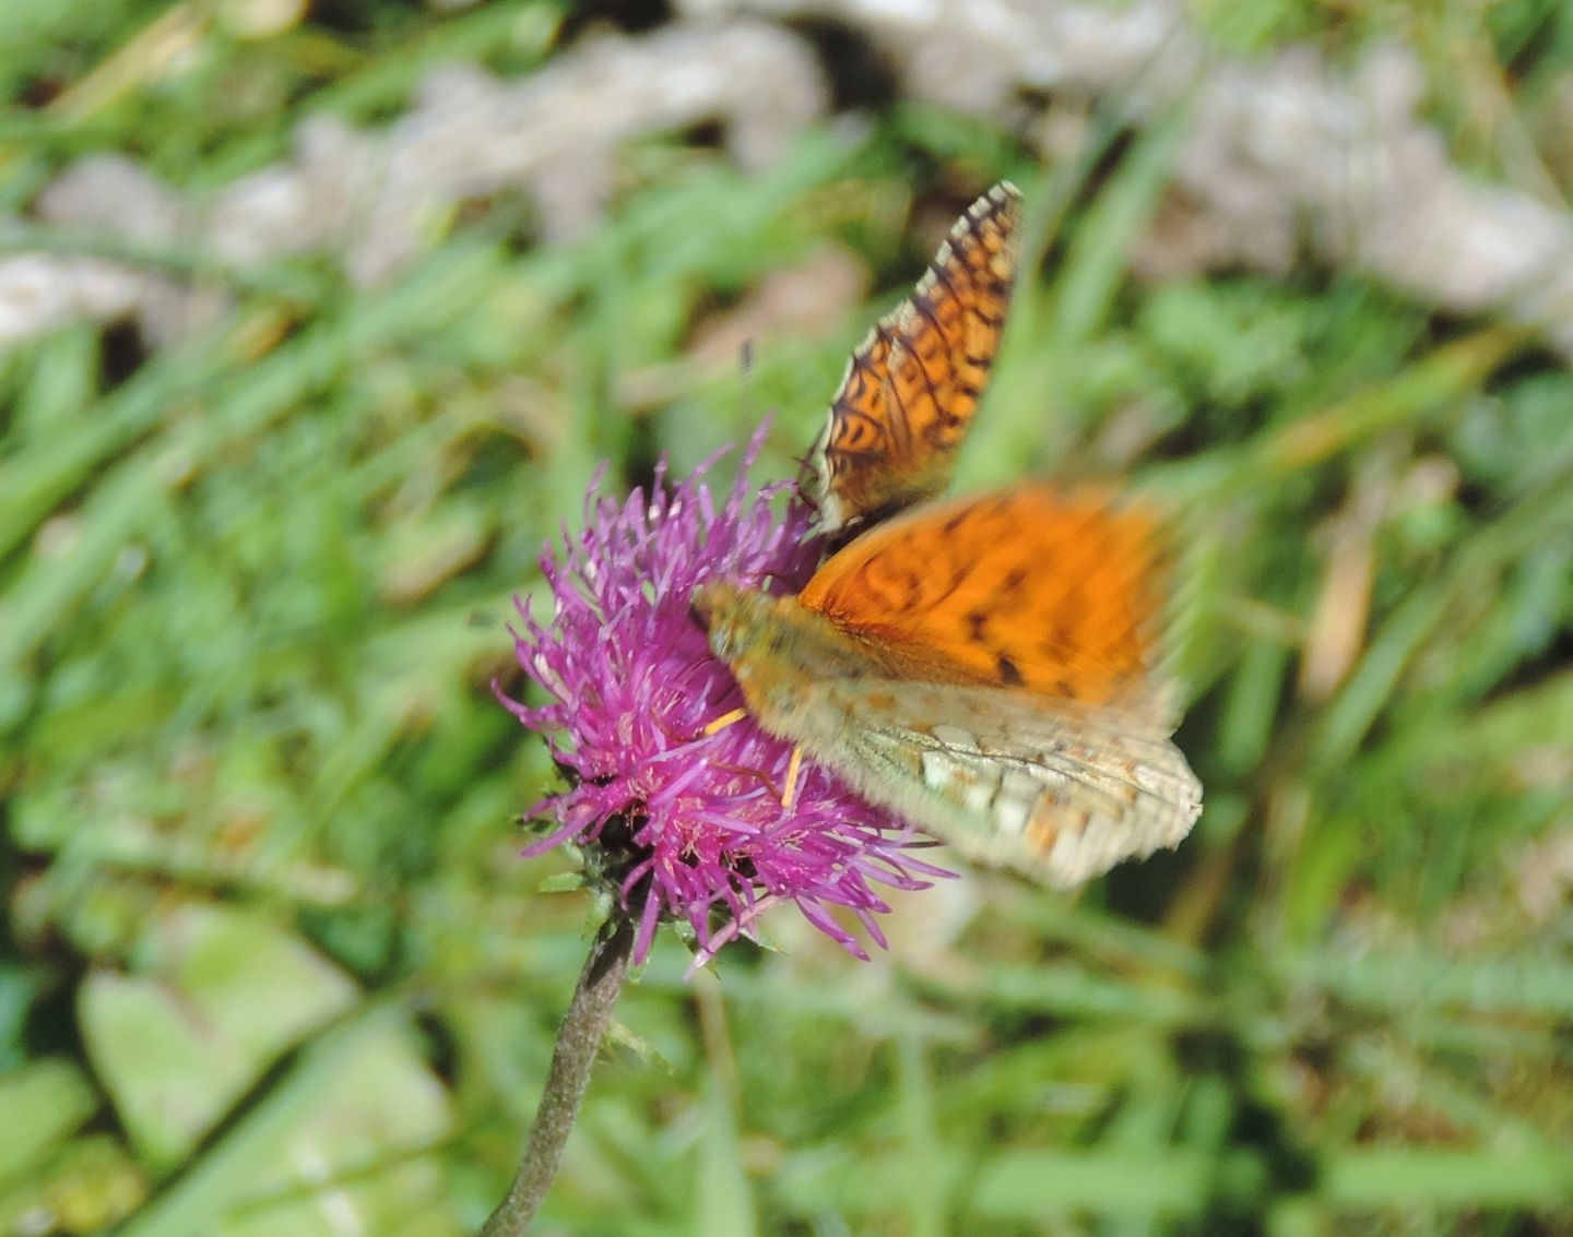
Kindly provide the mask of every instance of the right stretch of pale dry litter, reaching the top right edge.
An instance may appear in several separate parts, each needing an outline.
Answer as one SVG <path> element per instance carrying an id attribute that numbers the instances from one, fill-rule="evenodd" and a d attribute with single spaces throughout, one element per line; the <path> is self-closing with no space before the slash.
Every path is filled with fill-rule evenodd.
<path id="1" fill-rule="evenodd" d="M 1425 80 L 1403 47 L 1351 74 L 1313 49 L 1260 61 L 1211 52 L 1178 0 L 683 0 L 691 17 L 834 19 L 871 39 L 903 94 L 1010 118 L 1024 96 L 1082 97 L 1137 126 L 1183 110 L 1172 178 L 1192 267 L 1282 272 L 1310 240 L 1442 308 L 1496 308 L 1573 355 L 1573 215 L 1483 184 L 1417 119 Z M 1018 116 L 1018 119 L 1021 119 Z M 1065 126 L 1040 123 L 1038 148 Z M 1169 215 L 1175 218 L 1173 214 Z M 1307 236 L 1309 228 L 1309 236 Z M 1173 267 L 1172 237 L 1147 273 Z"/>

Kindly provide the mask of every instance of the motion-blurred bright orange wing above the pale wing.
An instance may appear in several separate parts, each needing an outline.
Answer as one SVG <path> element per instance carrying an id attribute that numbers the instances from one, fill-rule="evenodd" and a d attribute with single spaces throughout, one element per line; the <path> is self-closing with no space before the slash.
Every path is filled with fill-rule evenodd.
<path id="1" fill-rule="evenodd" d="M 1018 687 L 1158 725 L 1164 560 L 1151 512 L 1032 486 L 890 520 L 829 558 L 798 600 L 892 677 Z"/>

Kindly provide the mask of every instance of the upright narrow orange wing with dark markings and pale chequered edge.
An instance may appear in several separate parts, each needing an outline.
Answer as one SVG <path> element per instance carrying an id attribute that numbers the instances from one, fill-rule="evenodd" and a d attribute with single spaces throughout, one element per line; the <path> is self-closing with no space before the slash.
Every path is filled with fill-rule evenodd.
<path id="1" fill-rule="evenodd" d="M 1019 222 L 1021 193 L 1000 181 L 853 354 L 807 461 L 818 531 L 878 523 L 950 481 L 1005 329 Z"/>

